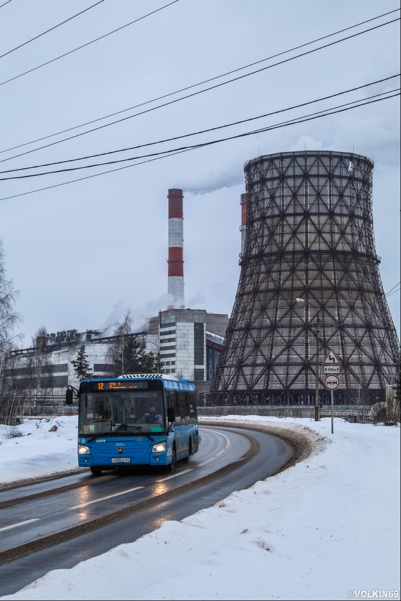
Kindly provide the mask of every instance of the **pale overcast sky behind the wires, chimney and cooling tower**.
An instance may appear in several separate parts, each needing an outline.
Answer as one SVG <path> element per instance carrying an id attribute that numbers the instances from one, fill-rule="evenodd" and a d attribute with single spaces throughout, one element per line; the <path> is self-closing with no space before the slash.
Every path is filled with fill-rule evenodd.
<path id="1" fill-rule="evenodd" d="M 0 55 L 95 2 L 12 0 L 0 8 Z M 105 0 L 1 58 L 0 82 L 167 3 Z M 398 6 L 393 0 L 179 0 L 70 56 L 0 85 L 0 150 L 173 92 Z M 394 15 L 381 22 L 391 18 Z M 0 163 L 0 171 L 219 126 L 396 73 L 399 22 L 147 115 Z M 286 115 L 304 115 L 396 87 L 399 79 Z M 277 115 L 228 131 L 241 133 L 282 120 Z M 197 141 L 217 137 L 209 133 Z M 304 147 L 354 149 L 374 158 L 376 251 L 382 257 L 384 290 L 390 290 L 400 280 L 399 97 L 0 201 L 0 238 L 8 275 L 20 291 L 18 309 L 26 341 L 42 324 L 49 332 L 99 328 L 130 308 L 139 327 L 144 317 L 165 308 L 167 191 L 174 187 L 183 188 L 185 195 L 187 307 L 230 314 L 239 277 L 243 163 L 259 154 Z M 0 154 L 0 159 L 15 153 Z M 0 197 L 87 174 L 1 182 Z M 399 298 L 399 293 L 388 297 L 398 331 Z"/>

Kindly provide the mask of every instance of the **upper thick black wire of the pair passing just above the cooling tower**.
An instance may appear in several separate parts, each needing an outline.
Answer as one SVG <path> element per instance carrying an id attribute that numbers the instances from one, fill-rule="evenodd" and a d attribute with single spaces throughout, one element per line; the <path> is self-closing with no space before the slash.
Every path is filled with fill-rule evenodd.
<path id="1" fill-rule="evenodd" d="M 218 129 L 224 129 L 225 127 L 233 127 L 235 125 L 239 125 L 239 124 L 242 124 L 242 123 L 247 123 L 249 121 L 255 121 L 257 119 L 262 119 L 262 118 L 265 118 L 265 117 L 271 117 L 271 115 L 277 115 L 277 114 L 279 114 L 281 112 L 292 111 L 293 109 L 301 108 L 302 106 L 311 105 L 311 104 L 314 104 L 316 102 L 321 102 L 322 100 L 328 100 L 328 99 L 334 98 L 336 96 L 341 96 L 342 94 L 348 94 L 350 92 L 354 92 L 355 90 L 361 90 L 362 88 L 367 88 L 367 87 L 370 87 L 371 85 L 380 84 L 380 83 L 382 83 L 384 81 L 388 81 L 389 79 L 394 79 L 396 77 L 399 77 L 400 75 L 401 75 L 401 73 L 397 73 L 397 75 L 391 75 L 388 78 L 378 79 L 377 81 L 373 81 L 370 84 L 360 85 L 357 88 L 350 88 L 349 90 L 344 90 L 342 92 L 337 92 L 336 94 L 330 94 L 329 96 L 323 96 L 322 98 L 318 98 L 316 100 L 310 100 L 309 102 L 303 102 L 303 103 L 301 103 L 299 105 L 290 106 L 288 108 L 280 109 L 278 111 L 272 111 L 272 112 L 269 112 L 269 113 L 265 113 L 263 115 L 258 115 L 257 117 L 249 117 L 248 119 L 242 119 L 240 121 L 233 121 L 232 123 L 227 123 L 225 125 L 220 125 L 220 126 L 217 126 L 217 127 L 210 127 L 209 129 L 203 129 L 203 130 L 200 130 L 198 132 L 186 133 L 186 134 L 181 135 L 181 136 L 174 136 L 173 138 L 165 138 L 165 139 L 162 139 L 162 140 L 158 140 L 156 142 L 148 142 L 147 144 L 138 144 L 136 146 L 130 146 L 130 147 L 127 147 L 127 148 L 120 148 L 118 150 L 111 150 L 111 151 L 108 151 L 108 152 L 97 153 L 97 154 L 89 154 L 87 156 L 81 156 L 81 157 L 78 157 L 76 159 L 58 160 L 58 161 L 55 161 L 55 162 L 52 162 L 52 163 L 41 163 L 40 165 L 32 165 L 32 166 L 29 166 L 29 167 L 20 167 L 20 168 L 14 168 L 14 169 L 7 169 L 6 171 L 0 171 L 0 174 L 11 173 L 11 172 L 15 172 L 15 171 L 26 171 L 28 169 L 37 169 L 39 167 L 49 167 L 49 166 L 52 166 L 52 165 L 61 165 L 62 163 L 70 163 L 70 162 L 75 162 L 75 161 L 78 161 L 78 160 L 94 159 L 94 158 L 96 158 L 98 156 L 106 156 L 107 154 L 115 154 L 115 153 L 120 153 L 120 152 L 126 152 L 128 150 L 136 150 L 137 148 L 144 148 L 145 146 L 153 146 L 153 145 L 156 145 L 156 144 L 162 144 L 164 142 L 172 142 L 174 140 L 178 140 L 178 139 L 182 139 L 182 138 L 189 138 L 190 136 L 196 136 L 196 135 L 200 135 L 202 133 L 208 133 L 208 132 L 216 131 Z M 375 98 L 377 96 L 381 96 L 382 94 L 390 94 L 393 91 L 396 91 L 396 90 L 388 90 L 387 92 L 382 92 L 381 94 L 375 94 L 373 96 L 368 96 L 364 100 L 368 100 L 370 98 Z M 359 102 L 359 101 L 355 100 L 355 101 L 349 102 L 348 104 L 353 104 L 354 102 Z M 345 105 L 341 105 L 341 106 L 345 106 Z"/>

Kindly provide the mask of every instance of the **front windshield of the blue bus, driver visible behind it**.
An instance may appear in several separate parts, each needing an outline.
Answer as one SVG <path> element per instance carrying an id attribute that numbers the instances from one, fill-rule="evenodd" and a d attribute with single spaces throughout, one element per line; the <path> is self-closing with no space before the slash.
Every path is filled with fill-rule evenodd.
<path id="1" fill-rule="evenodd" d="M 165 433 L 163 393 L 157 390 L 88 392 L 79 403 L 79 435 L 156 436 Z"/>

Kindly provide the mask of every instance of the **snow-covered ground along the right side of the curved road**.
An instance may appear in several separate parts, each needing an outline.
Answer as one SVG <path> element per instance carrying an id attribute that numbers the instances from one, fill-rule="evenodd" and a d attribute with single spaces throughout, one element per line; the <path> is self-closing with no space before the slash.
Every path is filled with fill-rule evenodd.
<path id="1" fill-rule="evenodd" d="M 399 428 L 335 419 L 332 436 L 329 419 L 221 424 L 310 429 L 314 451 L 214 507 L 1 599 L 340 600 L 400 590 Z"/>

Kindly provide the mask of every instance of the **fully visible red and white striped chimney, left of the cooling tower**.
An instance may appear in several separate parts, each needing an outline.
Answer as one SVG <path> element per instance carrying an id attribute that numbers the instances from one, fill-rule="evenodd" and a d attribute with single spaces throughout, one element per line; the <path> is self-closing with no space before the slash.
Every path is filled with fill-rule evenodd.
<path id="1" fill-rule="evenodd" d="M 174 305 L 168 309 L 185 308 L 183 258 L 183 194 L 177 188 L 168 191 L 168 287 Z"/>

